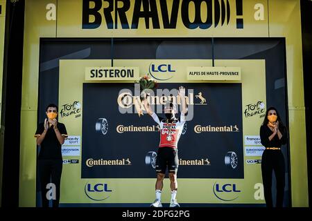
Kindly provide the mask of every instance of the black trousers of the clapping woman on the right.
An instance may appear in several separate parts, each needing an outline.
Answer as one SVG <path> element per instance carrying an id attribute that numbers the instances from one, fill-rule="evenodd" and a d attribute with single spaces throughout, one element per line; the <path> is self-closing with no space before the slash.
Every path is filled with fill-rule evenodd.
<path id="1" fill-rule="evenodd" d="M 280 150 L 265 150 L 262 155 L 261 162 L 262 181 L 264 189 L 264 198 L 266 199 L 266 206 L 273 207 L 272 202 L 272 171 L 275 172 L 276 177 L 276 206 L 282 207 L 284 200 L 285 187 L 285 162 L 284 155 Z"/>

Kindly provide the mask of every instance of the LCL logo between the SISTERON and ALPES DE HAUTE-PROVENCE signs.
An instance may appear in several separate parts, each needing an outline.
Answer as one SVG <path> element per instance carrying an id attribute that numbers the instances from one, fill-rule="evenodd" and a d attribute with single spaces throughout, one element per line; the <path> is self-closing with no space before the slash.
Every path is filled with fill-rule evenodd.
<path id="1" fill-rule="evenodd" d="M 173 70 L 171 64 L 150 64 L 148 70 L 153 78 L 160 81 L 173 78 L 173 73 L 175 73 L 175 70 Z"/>

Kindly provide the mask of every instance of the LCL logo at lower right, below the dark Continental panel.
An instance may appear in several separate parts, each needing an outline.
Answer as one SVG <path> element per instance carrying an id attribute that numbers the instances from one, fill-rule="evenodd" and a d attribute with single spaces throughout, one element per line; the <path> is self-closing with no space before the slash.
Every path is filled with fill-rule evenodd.
<path id="1" fill-rule="evenodd" d="M 241 191 L 237 189 L 236 184 L 216 184 L 214 183 L 214 195 L 216 198 L 223 201 L 232 201 L 239 198 L 237 195 Z"/>

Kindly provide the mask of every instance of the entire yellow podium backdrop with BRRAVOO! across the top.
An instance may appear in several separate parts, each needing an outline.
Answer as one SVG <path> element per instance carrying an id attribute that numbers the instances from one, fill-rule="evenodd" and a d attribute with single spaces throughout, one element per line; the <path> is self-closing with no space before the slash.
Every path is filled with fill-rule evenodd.
<path id="1" fill-rule="evenodd" d="M 146 74 L 188 90 L 179 203 L 263 206 L 259 128 L 276 105 L 289 130 L 285 203 L 308 206 L 300 27 L 295 0 L 26 0 L 19 206 L 36 206 L 33 135 L 53 102 L 69 133 L 61 206 L 154 200 L 159 128 L 135 103 Z"/>

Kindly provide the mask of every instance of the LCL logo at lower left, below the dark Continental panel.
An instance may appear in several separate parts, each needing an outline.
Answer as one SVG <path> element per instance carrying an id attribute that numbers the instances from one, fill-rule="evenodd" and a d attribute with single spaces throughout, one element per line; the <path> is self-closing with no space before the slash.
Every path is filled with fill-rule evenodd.
<path id="1" fill-rule="evenodd" d="M 108 188 L 108 184 L 85 184 L 85 195 L 91 200 L 102 201 L 110 197 L 107 195 L 112 190 Z"/>

